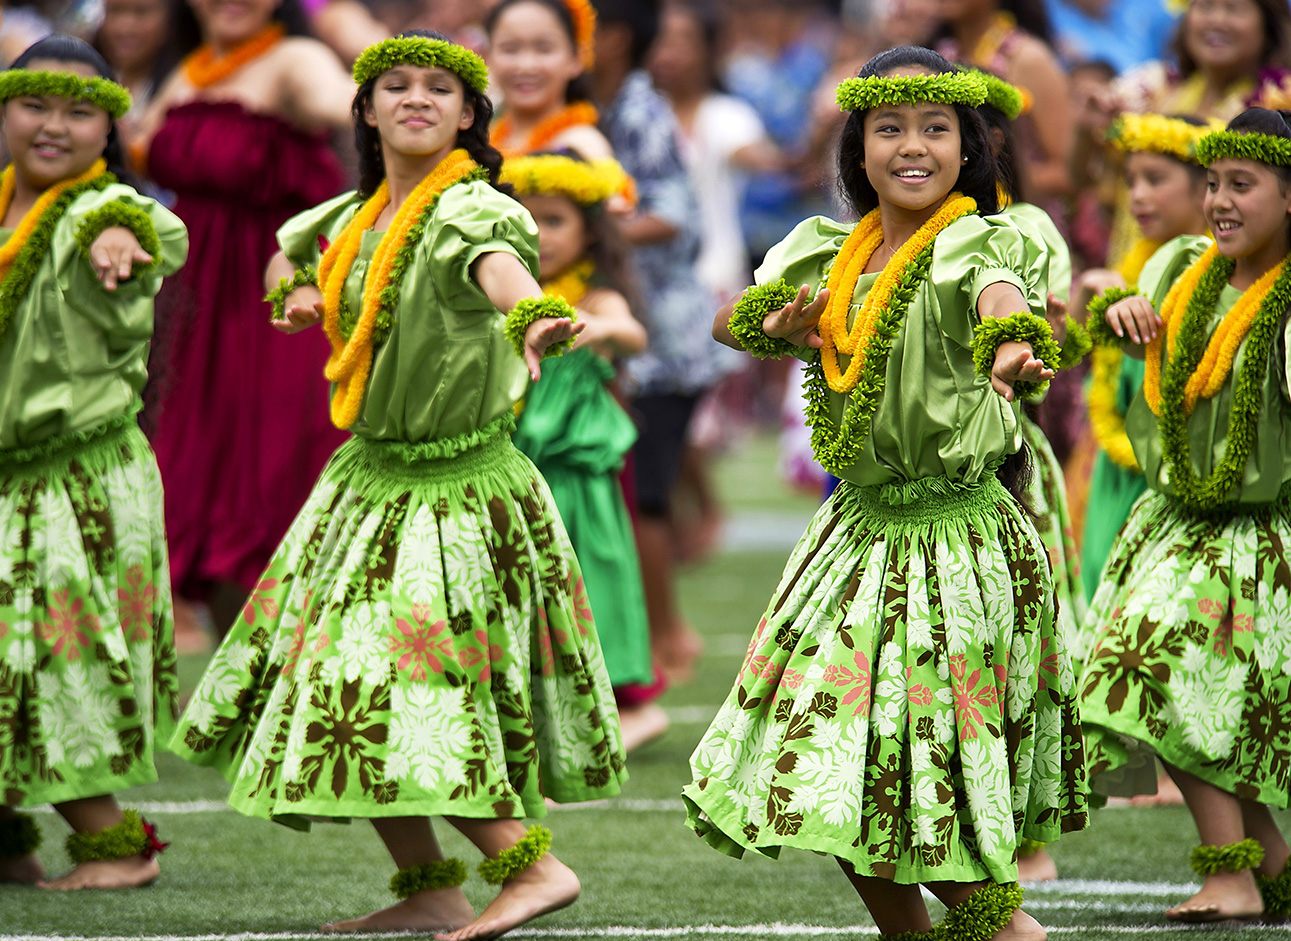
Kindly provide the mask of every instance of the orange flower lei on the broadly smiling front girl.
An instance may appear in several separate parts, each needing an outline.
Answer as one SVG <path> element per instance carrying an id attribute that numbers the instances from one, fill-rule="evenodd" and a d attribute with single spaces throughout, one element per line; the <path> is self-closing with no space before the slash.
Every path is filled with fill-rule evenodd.
<path id="1" fill-rule="evenodd" d="M 818 327 L 820 337 L 824 341 L 820 361 L 830 389 L 839 394 L 847 394 L 856 387 L 861 370 L 865 368 L 866 351 L 874 339 L 874 328 L 882 312 L 892 302 L 892 292 L 902 283 L 906 267 L 932 244 L 942 228 L 976 209 L 975 200 L 958 192 L 950 194 L 950 197 L 941 204 L 937 212 L 883 266 L 874 287 L 865 296 L 856 323 L 848 330 L 847 316 L 852 306 L 852 294 L 856 292 L 856 281 L 865 271 L 874 252 L 883 243 L 883 226 L 878 209 L 856 223 L 856 228 L 838 250 L 834 266 L 829 272 L 826 283 L 829 301 Z M 839 370 L 839 352 L 852 358 L 846 372 Z"/>

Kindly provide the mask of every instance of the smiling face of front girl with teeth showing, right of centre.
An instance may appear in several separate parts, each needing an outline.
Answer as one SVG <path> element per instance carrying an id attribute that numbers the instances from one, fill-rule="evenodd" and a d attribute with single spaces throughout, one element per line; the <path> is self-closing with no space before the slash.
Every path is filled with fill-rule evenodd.
<path id="1" fill-rule="evenodd" d="M 959 116 L 950 105 L 880 105 L 865 115 L 865 176 L 880 203 L 908 210 L 940 203 L 959 179 L 961 159 Z"/>

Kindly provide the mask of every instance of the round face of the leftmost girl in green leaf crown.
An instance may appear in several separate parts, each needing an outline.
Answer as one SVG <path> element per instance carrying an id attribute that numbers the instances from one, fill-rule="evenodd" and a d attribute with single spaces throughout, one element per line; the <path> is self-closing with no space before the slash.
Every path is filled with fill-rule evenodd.
<path id="1" fill-rule="evenodd" d="M 32 59 L 31 71 L 99 77 L 84 62 Z M 5 102 L 4 139 L 14 170 L 35 190 L 79 177 L 103 156 L 111 116 L 97 105 L 57 96 L 19 96 Z"/>

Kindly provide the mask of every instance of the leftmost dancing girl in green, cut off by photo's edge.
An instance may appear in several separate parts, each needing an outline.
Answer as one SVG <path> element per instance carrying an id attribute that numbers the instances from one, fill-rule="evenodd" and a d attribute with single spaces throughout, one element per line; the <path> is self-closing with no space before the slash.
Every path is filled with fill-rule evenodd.
<path id="1" fill-rule="evenodd" d="M 88 44 L 0 72 L 0 882 L 125 888 L 164 844 L 112 794 L 156 780 L 176 671 L 161 479 L 136 423 L 179 221 L 119 181 L 130 96 Z M 41 882 L 52 803 L 75 869 Z"/>

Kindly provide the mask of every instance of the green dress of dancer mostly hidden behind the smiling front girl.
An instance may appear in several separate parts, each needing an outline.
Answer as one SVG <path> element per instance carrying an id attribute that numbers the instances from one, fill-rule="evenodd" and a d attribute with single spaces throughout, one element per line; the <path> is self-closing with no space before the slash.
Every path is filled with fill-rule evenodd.
<path id="1" fill-rule="evenodd" d="M 1012 203 L 1001 209 L 995 218 L 1007 219 L 1021 230 L 1026 236 L 1028 252 L 1043 256 L 1030 259 L 1032 268 L 1044 274 L 1043 284 L 1035 285 L 1039 296 L 1047 298 L 1048 292 L 1053 292 L 1066 301 L 1072 293 L 1072 254 L 1048 213 L 1030 203 Z M 1035 514 L 1035 529 L 1048 552 L 1062 625 L 1068 631 L 1068 647 L 1074 651 L 1087 603 L 1081 582 L 1081 554 L 1075 547 L 1075 531 L 1066 502 L 1066 475 L 1044 431 L 1025 408 L 1022 439 L 1034 458 L 1026 502 Z"/>

